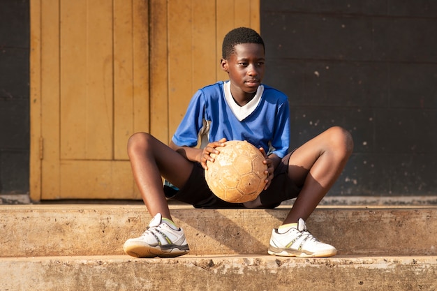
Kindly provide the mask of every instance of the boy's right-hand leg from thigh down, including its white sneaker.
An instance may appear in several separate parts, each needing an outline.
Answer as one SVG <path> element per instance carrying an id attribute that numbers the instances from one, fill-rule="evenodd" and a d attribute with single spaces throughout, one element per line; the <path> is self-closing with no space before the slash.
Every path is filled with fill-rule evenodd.
<path id="1" fill-rule="evenodd" d="M 339 177 L 352 149 L 350 134 L 343 128 L 334 127 L 293 152 L 288 176 L 302 189 L 283 225 L 272 230 L 270 255 L 330 257 L 337 253 L 334 246 L 313 237 L 306 230 L 304 221 Z"/>

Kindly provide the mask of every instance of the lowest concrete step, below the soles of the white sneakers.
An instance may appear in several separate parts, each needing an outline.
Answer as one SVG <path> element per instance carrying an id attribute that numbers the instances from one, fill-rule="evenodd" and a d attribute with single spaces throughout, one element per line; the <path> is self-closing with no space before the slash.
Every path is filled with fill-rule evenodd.
<path id="1" fill-rule="evenodd" d="M 437 290 L 437 257 L 0 258 L 0 290 Z"/>

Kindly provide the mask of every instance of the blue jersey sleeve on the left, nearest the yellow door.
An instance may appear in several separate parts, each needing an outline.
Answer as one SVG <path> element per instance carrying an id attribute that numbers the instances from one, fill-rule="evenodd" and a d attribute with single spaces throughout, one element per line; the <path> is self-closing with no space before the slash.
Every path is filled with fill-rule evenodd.
<path id="1" fill-rule="evenodd" d="M 198 144 L 198 135 L 202 128 L 205 114 L 205 98 L 201 90 L 197 91 L 188 104 L 186 113 L 172 137 L 179 147 L 195 147 Z"/>

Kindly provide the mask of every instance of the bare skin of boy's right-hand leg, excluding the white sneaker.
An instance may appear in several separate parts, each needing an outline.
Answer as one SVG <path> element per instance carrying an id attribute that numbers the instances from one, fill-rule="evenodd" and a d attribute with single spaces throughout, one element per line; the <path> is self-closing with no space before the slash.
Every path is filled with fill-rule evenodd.
<path id="1" fill-rule="evenodd" d="M 309 218 L 338 179 L 352 151 L 352 137 L 340 127 L 329 128 L 295 150 L 288 163 L 288 175 L 302 190 L 284 224 Z"/>

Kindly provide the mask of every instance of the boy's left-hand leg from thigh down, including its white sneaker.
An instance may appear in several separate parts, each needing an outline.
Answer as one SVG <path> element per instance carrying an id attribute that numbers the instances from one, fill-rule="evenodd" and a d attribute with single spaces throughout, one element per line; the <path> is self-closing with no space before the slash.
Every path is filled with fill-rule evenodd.
<path id="1" fill-rule="evenodd" d="M 172 222 L 161 175 L 182 187 L 193 163 L 147 133 L 132 135 L 128 155 L 133 177 L 153 219 L 140 237 L 124 243 L 125 253 L 138 258 L 177 257 L 188 253 L 184 231 Z"/>

